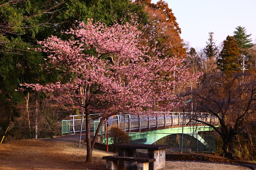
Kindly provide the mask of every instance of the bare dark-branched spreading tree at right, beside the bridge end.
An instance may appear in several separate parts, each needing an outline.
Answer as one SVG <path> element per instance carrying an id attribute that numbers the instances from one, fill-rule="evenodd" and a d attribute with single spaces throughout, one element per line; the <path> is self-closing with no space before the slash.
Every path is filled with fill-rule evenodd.
<path id="1" fill-rule="evenodd" d="M 234 158 L 234 137 L 241 133 L 250 123 L 256 111 L 256 79 L 253 74 L 224 75 L 214 73 L 208 75 L 204 83 L 194 92 L 193 101 L 196 112 L 208 112 L 216 116 L 221 128 L 210 122 L 197 119 L 219 133 L 223 141 L 223 155 Z"/>

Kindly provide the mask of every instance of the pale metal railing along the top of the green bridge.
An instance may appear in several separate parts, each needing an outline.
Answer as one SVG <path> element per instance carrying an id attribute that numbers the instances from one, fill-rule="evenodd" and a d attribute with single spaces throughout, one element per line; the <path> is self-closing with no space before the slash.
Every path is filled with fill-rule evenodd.
<path id="1" fill-rule="evenodd" d="M 94 114 L 95 115 L 95 114 Z M 199 120 L 206 121 L 207 123 L 219 124 L 219 119 L 209 113 L 190 113 L 186 112 L 184 115 L 185 124 L 201 124 L 201 122 L 190 122 L 190 116 L 196 115 Z M 71 115 L 71 120 L 69 124 L 65 123 L 65 126 L 69 126 L 69 133 L 79 132 L 81 129 L 81 117 L 82 115 Z M 90 119 L 90 129 L 94 130 L 98 127 L 97 121 L 100 121 L 101 118 L 96 120 Z M 67 120 L 65 120 L 67 121 Z M 157 116 L 152 115 L 132 115 L 132 114 L 120 114 L 115 115 L 112 118 L 112 125 L 109 127 L 118 127 L 119 129 L 125 129 L 130 131 L 133 129 L 142 129 L 142 128 L 155 128 L 160 126 L 173 126 L 180 125 L 183 121 L 183 112 L 161 112 Z M 62 127 L 62 129 L 67 129 Z M 105 122 L 101 125 L 101 133 L 105 133 Z M 85 118 L 83 119 L 82 131 L 85 131 Z M 63 133 L 68 133 L 63 131 Z"/>

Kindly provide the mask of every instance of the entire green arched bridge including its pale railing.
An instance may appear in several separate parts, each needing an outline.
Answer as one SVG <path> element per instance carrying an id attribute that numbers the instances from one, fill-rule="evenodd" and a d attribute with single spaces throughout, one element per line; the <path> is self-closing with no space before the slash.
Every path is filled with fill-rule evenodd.
<path id="1" fill-rule="evenodd" d="M 184 142 L 183 145 L 188 147 L 193 152 L 215 152 L 215 144 L 213 136 L 199 134 L 201 131 L 212 131 L 213 128 L 204 126 L 203 124 L 196 122 L 190 123 L 189 114 L 184 114 Z M 201 117 L 201 120 L 214 124 L 215 127 L 219 127 L 219 120 L 209 113 L 199 113 L 197 116 Z M 70 116 L 70 120 L 62 121 L 62 133 L 76 133 L 81 129 L 81 115 Z M 80 118 L 80 119 L 79 119 Z M 163 112 L 158 116 L 151 115 L 130 115 L 120 114 L 115 115 L 111 122 L 112 127 L 118 127 L 125 130 L 131 137 L 132 143 L 137 144 L 168 144 L 172 145 L 172 148 L 180 149 L 180 139 L 182 134 L 182 112 Z M 99 125 L 99 120 L 90 121 L 91 130 L 95 131 Z M 83 120 L 82 131 L 85 130 L 85 120 Z M 98 134 L 99 141 L 106 144 L 106 125 L 101 125 L 100 133 Z M 108 143 L 111 144 L 110 138 Z M 196 144 L 196 147 L 192 146 Z M 194 147 L 194 149 L 193 149 Z M 198 148 L 204 148 L 202 149 Z"/>

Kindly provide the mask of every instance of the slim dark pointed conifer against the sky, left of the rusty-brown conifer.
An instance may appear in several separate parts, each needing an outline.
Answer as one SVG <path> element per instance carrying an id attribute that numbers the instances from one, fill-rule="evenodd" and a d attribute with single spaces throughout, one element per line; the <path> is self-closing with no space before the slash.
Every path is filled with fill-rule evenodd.
<path id="1" fill-rule="evenodd" d="M 213 40 L 213 32 L 209 33 L 209 39 L 208 42 L 206 42 L 206 44 L 206 47 L 204 47 L 203 49 L 205 58 L 215 58 L 219 50 L 215 45 L 215 41 Z"/>

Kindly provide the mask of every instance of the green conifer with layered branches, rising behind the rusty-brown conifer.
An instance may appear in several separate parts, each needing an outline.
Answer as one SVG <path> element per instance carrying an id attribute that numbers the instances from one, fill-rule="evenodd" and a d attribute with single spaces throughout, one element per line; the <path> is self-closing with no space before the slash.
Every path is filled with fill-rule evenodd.
<path id="1" fill-rule="evenodd" d="M 234 31 L 234 37 L 237 41 L 237 45 L 239 48 L 252 48 L 253 43 L 252 39 L 249 38 L 252 34 L 246 34 L 246 29 L 243 26 L 237 26 L 236 31 Z"/>

